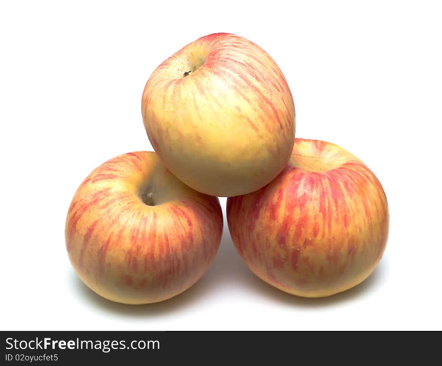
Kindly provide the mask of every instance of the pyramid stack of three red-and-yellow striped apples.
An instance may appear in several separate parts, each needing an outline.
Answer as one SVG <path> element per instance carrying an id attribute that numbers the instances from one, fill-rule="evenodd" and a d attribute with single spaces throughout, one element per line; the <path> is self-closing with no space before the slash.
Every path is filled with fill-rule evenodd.
<path id="1" fill-rule="evenodd" d="M 357 157 L 295 139 L 281 70 L 254 43 L 212 34 L 150 76 L 142 115 L 156 152 L 93 170 L 66 220 L 81 280 L 113 301 L 162 301 L 207 270 L 223 233 L 217 196 L 249 268 L 288 293 L 320 297 L 356 286 L 385 250 L 382 186 Z"/>

